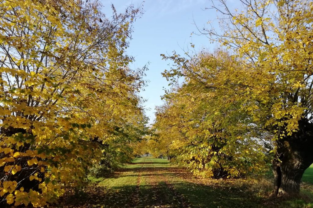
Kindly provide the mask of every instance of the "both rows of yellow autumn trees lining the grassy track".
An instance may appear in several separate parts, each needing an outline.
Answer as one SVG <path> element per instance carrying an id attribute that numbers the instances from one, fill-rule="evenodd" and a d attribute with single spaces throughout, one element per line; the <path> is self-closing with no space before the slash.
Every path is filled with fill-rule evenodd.
<path id="1" fill-rule="evenodd" d="M 2 0 L 0 206 L 55 202 L 147 152 L 202 177 L 272 169 L 275 195 L 299 193 L 313 162 L 313 2 L 240 2 L 208 8 L 220 28 L 198 33 L 215 51 L 162 55 L 172 87 L 149 129 L 146 67 L 126 54 L 142 8 Z"/>

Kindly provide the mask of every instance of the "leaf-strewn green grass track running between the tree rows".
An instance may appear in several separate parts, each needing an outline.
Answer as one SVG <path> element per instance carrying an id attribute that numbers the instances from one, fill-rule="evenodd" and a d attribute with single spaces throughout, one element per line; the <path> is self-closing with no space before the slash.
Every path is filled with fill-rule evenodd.
<path id="1" fill-rule="evenodd" d="M 312 180 L 313 167 L 306 171 Z M 195 178 L 166 159 L 136 158 L 110 178 L 90 177 L 90 186 L 65 207 L 313 207 L 312 185 L 306 184 L 299 199 L 270 196 L 266 180 L 213 180 Z M 75 204 L 76 203 L 76 204 Z"/>

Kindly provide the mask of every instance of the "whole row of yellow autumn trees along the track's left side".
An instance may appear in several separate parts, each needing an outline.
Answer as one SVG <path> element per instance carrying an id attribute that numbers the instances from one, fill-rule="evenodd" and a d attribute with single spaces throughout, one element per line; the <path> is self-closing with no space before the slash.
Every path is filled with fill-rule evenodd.
<path id="1" fill-rule="evenodd" d="M 43 206 L 93 164 L 124 162 L 146 131 L 144 70 L 125 55 L 141 9 L 0 2 L 0 206 Z M 113 159 L 112 159 L 113 158 Z"/>

